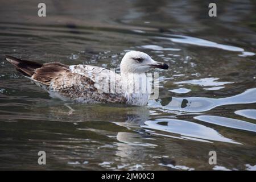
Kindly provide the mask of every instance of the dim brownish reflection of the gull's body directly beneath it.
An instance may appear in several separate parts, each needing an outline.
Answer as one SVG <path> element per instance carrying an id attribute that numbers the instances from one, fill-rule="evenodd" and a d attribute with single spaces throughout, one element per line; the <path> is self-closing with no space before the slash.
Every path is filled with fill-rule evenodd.
<path id="1" fill-rule="evenodd" d="M 64 107 L 66 106 L 66 107 Z M 120 126 L 142 125 L 150 118 L 150 110 L 147 107 L 125 106 L 125 105 L 81 105 L 71 103 L 65 105 L 38 106 L 34 111 L 38 113 L 44 110 L 44 118 L 51 121 L 63 122 L 86 122 L 86 121 L 105 121 L 113 122 Z M 72 118 L 71 118 L 72 112 Z M 118 120 L 117 120 L 118 118 Z"/>

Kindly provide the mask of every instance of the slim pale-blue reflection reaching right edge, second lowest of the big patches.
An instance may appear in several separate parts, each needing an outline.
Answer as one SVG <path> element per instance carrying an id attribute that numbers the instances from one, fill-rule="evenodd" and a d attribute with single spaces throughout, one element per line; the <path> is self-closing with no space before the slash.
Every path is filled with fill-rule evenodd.
<path id="1" fill-rule="evenodd" d="M 246 130 L 256 132 L 256 125 L 250 122 L 241 121 L 238 119 L 219 117 L 215 115 L 199 115 L 194 117 L 200 121 L 212 123 L 214 125 L 230 127 L 232 129 Z"/>

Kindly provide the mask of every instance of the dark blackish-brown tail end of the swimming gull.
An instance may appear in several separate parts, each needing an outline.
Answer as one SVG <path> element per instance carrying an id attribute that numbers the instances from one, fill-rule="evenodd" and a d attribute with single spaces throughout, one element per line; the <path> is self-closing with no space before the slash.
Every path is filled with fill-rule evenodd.
<path id="1" fill-rule="evenodd" d="M 13 64 L 16 70 L 26 77 L 31 77 L 34 74 L 35 69 L 43 66 L 43 64 L 36 63 L 34 61 L 20 60 L 13 56 L 6 55 L 5 59 Z"/>

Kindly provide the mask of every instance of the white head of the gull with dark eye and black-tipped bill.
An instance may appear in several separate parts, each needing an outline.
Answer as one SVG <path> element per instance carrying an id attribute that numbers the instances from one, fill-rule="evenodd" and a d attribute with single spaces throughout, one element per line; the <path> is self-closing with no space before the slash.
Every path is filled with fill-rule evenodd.
<path id="1" fill-rule="evenodd" d="M 168 65 L 151 59 L 144 52 L 130 51 L 123 56 L 120 64 L 121 75 L 127 73 L 144 73 L 150 68 L 168 69 Z"/>

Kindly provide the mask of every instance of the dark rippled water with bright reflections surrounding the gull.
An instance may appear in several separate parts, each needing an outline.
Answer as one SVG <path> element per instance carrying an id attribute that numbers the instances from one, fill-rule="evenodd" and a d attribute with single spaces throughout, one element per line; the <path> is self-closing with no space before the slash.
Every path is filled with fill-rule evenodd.
<path id="1" fill-rule="evenodd" d="M 1 2 L 0 169 L 255 170 L 253 1 L 218 2 L 217 18 L 207 2 L 44 2 L 46 18 Z M 146 107 L 52 99 L 4 59 L 119 71 L 134 49 L 170 65 Z"/>

